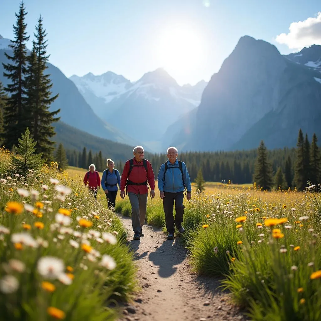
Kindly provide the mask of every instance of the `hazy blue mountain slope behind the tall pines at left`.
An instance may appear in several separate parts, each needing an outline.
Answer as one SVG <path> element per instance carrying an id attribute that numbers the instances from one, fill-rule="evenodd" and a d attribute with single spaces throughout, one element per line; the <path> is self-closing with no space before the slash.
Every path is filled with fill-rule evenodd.
<path id="1" fill-rule="evenodd" d="M 2 63 L 7 63 L 4 52 L 12 55 L 9 39 L 0 36 L 0 80 L 7 83 L 7 78 L 3 76 L 4 68 Z M 69 80 L 59 68 L 48 63 L 46 71 L 52 80 L 53 94 L 59 93 L 58 98 L 52 103 L 50 110 L 61 109 L 59 116 L 66 124 L 74 126 L 92 135 L 108 138 L 115 142 L 136 144 L 137 142 L 130 136 L 124 134 L 116 127 L 101 120 L 84 100 L 75 84 Z"/>

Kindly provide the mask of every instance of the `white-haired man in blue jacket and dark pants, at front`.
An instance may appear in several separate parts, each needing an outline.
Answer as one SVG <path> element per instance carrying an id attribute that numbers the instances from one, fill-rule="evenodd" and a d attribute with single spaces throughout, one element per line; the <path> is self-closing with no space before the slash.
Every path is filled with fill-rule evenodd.
<path id="1" fill-rule="evenodd" d="M 191 180 L 185 163 L 177 160 L 177 155 L 177 148 L 169 147 L 167 149 L 168 160 L 160 166 L 157 177 L 160 198 L 163 200 L 168 240 L 174 239 L 175 226 L 179 233 L 185 232 L 185 229 L 182 227 L 185 208 L 183 205 L 185 189 L 187 189 L 187 201 L 191 199 Z M 173 216 L 174 201 L 175 220 Z"/>

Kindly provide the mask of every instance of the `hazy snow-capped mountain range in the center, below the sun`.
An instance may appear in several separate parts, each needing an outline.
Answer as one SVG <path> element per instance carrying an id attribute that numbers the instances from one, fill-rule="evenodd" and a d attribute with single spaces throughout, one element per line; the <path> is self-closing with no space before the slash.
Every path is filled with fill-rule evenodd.
<path id="1" fill-rule="evenodd" d="M 144 74 L 136 82 L 112 72 L 73 75 L 70 80 L 98 116 L 142 143 L 147 143 L 146 132 L 153 132 L 148 140 L 152 145 L 171 123 L 199 105 L 207 85 L 201 81 L 195 86 L 180 86 L 162 68 Z M 133 132 L 135 122 L 143 122 L 144 130 Z"/>

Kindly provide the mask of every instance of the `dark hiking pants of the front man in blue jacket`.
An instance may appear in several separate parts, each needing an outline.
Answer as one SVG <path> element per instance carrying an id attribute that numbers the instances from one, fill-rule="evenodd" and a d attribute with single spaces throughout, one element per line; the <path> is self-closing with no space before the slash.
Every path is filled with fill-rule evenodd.
<path id="1" fill-rule="evenodd" d="M 165 222 L 166 222 L 166 229 L 169 233 L 175 232 L 175 226 L 181 227 L 183 222 L 183 214 L 184 208 L 183 205 L 184 201 L 184 192 L 178 193 L 169 193 L 164 192 L 165 197 L 163 198 L 163 206 L 165 212 Z M 174 201 L 175 201 L 175 220 L 173 216 L 173 209 L 174 209 Z"/>

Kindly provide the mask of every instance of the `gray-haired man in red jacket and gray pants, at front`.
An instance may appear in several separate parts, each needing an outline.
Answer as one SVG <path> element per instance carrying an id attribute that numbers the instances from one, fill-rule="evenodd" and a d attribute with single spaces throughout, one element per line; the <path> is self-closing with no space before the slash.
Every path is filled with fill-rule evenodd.
<path id="1" fill-rule="evenodd" d="M 126 192 L 132 206 L 132 226 L 134 240 L 144 236 L 143 225 L 146 218 L 148 186 L 151 187 L 150 196 L 155 196 L 155 176 L 152 165 L 144 159 L 144 149 L 136 146 L 133 150 L 134 158 L 127 160 L 120 181 L 120 197 L 124 199 Z"/>

